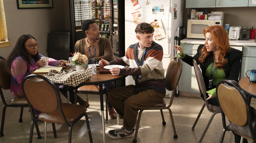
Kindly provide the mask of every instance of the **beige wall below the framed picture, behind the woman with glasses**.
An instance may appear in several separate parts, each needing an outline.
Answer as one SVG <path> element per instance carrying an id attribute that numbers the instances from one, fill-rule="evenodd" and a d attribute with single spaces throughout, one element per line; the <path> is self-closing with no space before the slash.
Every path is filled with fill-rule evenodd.
<path id="1" fill-rule="evenodd" d="M 47 38 L 51 31 L 70 30 L 69 1 L 53 0 L 53 8 L 17 9 L 16 0 L 4 0 L 10 47 L 0 48 L 0 56 L 7 58 L 16 40 L 31 34 L 40 44 L 39 53 L 47 56 Z"/>

